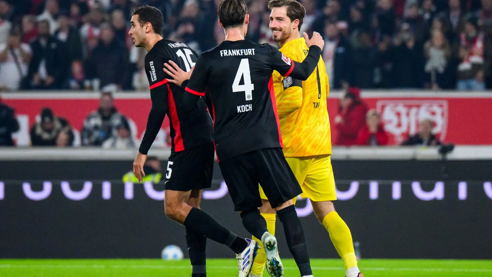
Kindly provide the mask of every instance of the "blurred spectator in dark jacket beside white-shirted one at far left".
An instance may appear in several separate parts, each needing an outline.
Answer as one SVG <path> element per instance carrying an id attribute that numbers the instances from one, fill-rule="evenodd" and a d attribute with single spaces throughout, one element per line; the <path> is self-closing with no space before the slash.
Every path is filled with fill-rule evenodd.
<path id="1" fill-rule="evenodd" d="M 38 38 L 32 42 L 32 61 L 28 76 L 33 89 L 58 88 L 64 81 L 67 71 L 64 44 L 51 36 L 50 24 L 38 22 Z"/>

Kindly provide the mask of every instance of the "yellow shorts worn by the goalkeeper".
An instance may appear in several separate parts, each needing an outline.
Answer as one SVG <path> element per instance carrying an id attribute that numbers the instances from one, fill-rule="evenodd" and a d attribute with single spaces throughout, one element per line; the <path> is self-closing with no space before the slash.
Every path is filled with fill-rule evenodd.
<path id="1" fill-rule="evenodd" d="M 290 169 L 303 189 L 301 197 L 312 201 L 337 200 L 335 178 L 330 155 L 285 157 Z M 261 199 L 267 200 L 260 185 Z"/>

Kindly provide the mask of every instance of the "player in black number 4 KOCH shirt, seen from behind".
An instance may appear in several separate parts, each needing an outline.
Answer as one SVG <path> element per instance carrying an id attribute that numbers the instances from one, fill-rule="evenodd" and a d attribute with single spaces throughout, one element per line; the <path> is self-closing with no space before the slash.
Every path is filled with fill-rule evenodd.
<path id="1" fill-rule="evenodd" d="M 258 182 L 264 184 L 265 194 L 284 226 L 301 276 L 312 277 L 304 230 L 292 202 L 302 191 L 281 150 L 272 73 L 277 70 L 283 76 L 306 79 L 318 63 L 324 41 L 317 33 L 310 40 L 305 34 L 307 45 L 312 45 L 310 53 L 302 64 L 293 62 L 271 45 L 244 38 L 249 22 L 244 0 L 222 0 L 217 14 L 226 40 L 198 58 L 190 77 L 169 65 L 166 73 L 189 92 L 185 96 L 190 99 L 188 107 L 195 106 L 206 88 L 210 89 L 220 170 L 243 225 L 265 245 L 268 273 L 283 276 L 283 267 L 277 240 L 258 210 L 262 205 Z M 186 78 L 189 81 L 181 83 Z"/>

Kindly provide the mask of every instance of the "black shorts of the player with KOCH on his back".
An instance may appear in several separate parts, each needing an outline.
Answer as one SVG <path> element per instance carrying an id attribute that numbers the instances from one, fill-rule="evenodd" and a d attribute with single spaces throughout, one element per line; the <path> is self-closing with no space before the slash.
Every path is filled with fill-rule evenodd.
<path id="1" fill-rule="evenodd" d="M 235 211 L 261 207 L 258 183 L 273 208 L 303 191 L 287 164 L 281 148 L 265 148 L 218 163 Z"/>

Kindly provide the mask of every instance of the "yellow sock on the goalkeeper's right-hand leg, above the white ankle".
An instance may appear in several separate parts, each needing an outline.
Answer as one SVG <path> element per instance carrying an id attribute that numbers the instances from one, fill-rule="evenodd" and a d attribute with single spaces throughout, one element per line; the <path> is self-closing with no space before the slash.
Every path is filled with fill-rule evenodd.
<path id="1" fill-rule="evenodd" d="M 323 226 L 330 234 L 330 239 L 343 260 L 345 269 L 357 266 L 352 234 L 350 234 L 350 229 L 348 229 L 345 221 L 336 211 L 332 211 L 323 218 Z"/>

